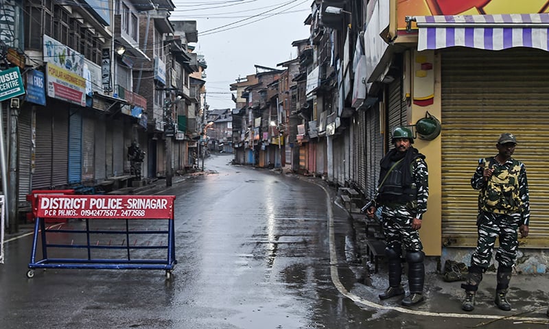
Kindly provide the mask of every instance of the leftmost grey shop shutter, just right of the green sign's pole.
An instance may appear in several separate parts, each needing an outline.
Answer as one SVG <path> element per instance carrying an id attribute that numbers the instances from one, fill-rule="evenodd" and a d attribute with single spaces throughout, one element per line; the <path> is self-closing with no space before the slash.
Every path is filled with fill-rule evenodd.
<path id="1" fill-rule="evenodd" d="M 23 108 L 19 114 L 19 204 L 26 202 L 30 191 L 32 154 L 32 108 Z"/>

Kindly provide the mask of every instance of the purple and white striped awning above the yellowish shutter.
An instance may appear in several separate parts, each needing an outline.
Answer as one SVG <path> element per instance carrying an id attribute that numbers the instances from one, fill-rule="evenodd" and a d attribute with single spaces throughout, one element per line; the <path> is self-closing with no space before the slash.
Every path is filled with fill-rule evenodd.
<path id="1" fill-rule="evenodd" d="M 469 47 L 501 50 L 513 47 L 549 51 L 549 14 L 415 16 L 417 50 Z M 412 19 L 412 20 L 413 20 Z"/>

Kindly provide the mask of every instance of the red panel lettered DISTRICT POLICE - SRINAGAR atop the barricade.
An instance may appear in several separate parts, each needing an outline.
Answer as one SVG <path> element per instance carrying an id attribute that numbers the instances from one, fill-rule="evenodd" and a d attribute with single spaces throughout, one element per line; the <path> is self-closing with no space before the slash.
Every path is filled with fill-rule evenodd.
<path id="1" fill-rule="evenodd" d="M 38 195 L 40 218 L 173 219 L 174 195 Z"/>

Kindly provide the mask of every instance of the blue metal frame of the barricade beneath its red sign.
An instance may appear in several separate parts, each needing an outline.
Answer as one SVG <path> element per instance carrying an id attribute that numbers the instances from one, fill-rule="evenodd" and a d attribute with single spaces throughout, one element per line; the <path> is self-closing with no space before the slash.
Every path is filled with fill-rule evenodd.
<path id="1" fill-rule="evenodd" d="M 162 269 L 172 271 L 177 263 L 175 258 L 175 232 L 174 219 L 153 219 L 154 221 L 168 221 L 167 230 L 129 230 L 130 220 L 140 219 L 117 219 L 126 221 L 126 230 L 90 230 L 89 221 L 85 219 L 86 228 L 84 230 L 56 230 L 47 228 L 43 218 L 38 217 L 34 225 L 34 238 L 32 241 L 32 252 L 30 257 L 29 269 Z M 97 221 L 105 221 L 105 219 L 94 219 Z M 67 245 L 47 243 L 46 234 L 68 233 L 68 234 L 86 234 L 86 244 L 84 245 Z M 90 234 L 120 234 L 124 235 L 125 245 L 91 245 Z M 130 234 L 163 234 L 167 235 L 167 245 L 130 245 Z M 36 250 L 38 247 L 38 238 L 41 239 L 42 259 L 36 260 Z M 87 258 L 48 258 L 48 248 L 67 248 L 67 249 L 86 249 Z M 92 249 L 126 249 L 126 259 L 104 259 L 92 258 Z M 132 250 L 137 249 L 166 249 L 167 254 L 165 259 L 132 259 Z M 29 278 L 32 278 L 27 273 Z M 34 274 L 33 274 L 34 276 Z"/>

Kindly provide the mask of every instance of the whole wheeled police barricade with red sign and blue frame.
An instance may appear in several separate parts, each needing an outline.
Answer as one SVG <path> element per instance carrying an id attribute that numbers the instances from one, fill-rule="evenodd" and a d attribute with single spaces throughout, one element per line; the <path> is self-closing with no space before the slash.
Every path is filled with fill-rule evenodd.
<path id="1" fill-rule="evenodd" d="M 162 269 L 171 278 L 177 263 L 174 199 L 174 195 L 38 195 L 27 277 L 34 277 L 34 269 L 57 268 Z M 46 226 L 48 218 L 74 220 Z"/>

